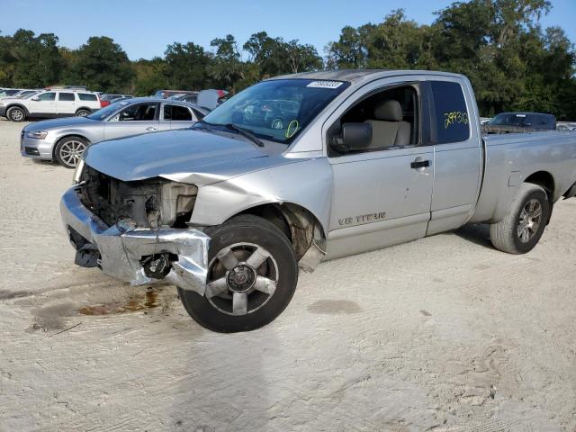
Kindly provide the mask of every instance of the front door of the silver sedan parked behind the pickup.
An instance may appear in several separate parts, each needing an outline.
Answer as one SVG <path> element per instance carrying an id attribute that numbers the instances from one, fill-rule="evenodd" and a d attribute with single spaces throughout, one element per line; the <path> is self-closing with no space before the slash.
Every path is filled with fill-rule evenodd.
<path id="1" fill-rule="evenodd" d="M 104 125 L 104 139 L 155 132 L 159 129 L 159 103 L 132 103 Z"/>

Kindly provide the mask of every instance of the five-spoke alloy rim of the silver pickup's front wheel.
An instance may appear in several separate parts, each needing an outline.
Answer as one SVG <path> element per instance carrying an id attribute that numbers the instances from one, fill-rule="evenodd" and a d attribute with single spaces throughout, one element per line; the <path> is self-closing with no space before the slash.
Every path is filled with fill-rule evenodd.
<path id="1" fill-rule="evenodd" d="M 212 258 L 204 295 L 222 313 L 247 315 L 270 301 L 278 275 L 276 260 L 264 247 L 235 243 Z"/>

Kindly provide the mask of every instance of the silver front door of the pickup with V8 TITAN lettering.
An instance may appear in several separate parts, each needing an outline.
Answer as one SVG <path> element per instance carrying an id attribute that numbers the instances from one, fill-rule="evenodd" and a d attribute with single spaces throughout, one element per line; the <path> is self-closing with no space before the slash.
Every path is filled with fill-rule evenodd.
<path id="1" fill-rule="evenodd" d="M 383 86 L 338 119 L 372 126 L 370 148 L 329 151 L 333 193 L 328 256 L 341 257 L 426 235 L 434 148 L 422 145 L 419 83 Z M 338 125 L 337 128 L 338 130 Z M 428 144 L 428 143 L 427 143 Z"/>

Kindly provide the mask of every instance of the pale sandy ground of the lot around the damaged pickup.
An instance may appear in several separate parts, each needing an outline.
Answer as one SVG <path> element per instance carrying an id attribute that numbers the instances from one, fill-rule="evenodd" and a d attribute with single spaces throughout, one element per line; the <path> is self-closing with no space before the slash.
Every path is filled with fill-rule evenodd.
<path id="1" fill-rule="evenodd" d="M 0 430 L 576 430 L 576 200 L 526 256 L 476 227 L 331 261 L 220 335 L 174 287 L 73 265 L 72 172 L 20 157 L 22 127 L 0 121 Z"/>

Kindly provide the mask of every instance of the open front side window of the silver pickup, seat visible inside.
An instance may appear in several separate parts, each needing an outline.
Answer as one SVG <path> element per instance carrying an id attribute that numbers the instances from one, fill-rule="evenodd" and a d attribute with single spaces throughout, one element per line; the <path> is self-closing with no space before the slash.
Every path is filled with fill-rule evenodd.
<path id="1" fill-rule="evenodd" d="M 370 94 L 356 103 L 329 128 L 330 156 L 338 156 L 338 140 L 347 123 L 365 123 L 372 128 L 368 148 L 354 153 L 419 145 L 419 86 L 401 85 Z"/>

